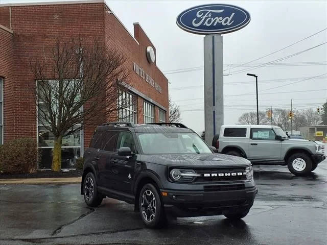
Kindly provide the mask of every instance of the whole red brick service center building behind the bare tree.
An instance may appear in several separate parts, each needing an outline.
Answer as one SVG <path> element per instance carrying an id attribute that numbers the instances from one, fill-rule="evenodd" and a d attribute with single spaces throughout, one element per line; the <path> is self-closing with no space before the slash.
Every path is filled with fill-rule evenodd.
<path id="1" fill-rule="evenodd" d="M 133 36 L 103 0 L 5 4 L 0 6 L 0 143 L 35 138 L 42 149 L 39 167 L 51 166 L 54 138 L 39 125 L 28 88 L 36 85 L 31 57 L 58 36 L 95 37 L 119 50 L 129 70 L 126 96 L 134 102 L 129 120 L 141 124 L 167 120 L 168 80 L 156 66 L 156 49 L 138 23 Z M 83 155 L 93 131 L 84 127 L 63 139 L 63 168 L 71 168 Z"/>

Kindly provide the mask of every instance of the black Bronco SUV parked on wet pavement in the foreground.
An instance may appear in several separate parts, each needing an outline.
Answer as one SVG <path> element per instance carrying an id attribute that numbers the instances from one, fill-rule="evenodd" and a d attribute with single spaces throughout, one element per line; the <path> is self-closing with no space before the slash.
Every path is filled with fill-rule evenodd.
<path id="1" fill-rule="evenodd" d="M 99 126 L 84 159 L 86 204 L 105 197 L 134 204 L 148 227 L 165 224 L 167 215 L 240 219 L 257 192 L 250 161 L 215 154 L 182 124 Z"/>

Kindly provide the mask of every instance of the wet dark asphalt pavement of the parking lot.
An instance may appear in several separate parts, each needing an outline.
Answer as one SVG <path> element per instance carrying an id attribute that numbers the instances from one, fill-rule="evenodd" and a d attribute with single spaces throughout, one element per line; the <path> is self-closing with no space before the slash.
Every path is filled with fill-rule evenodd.
<path id="1" fill-rule="evenodd" d="M 259 193 L 238 222 L 224 216 L 177 218 L 145 228 L 133 206 L 105 199 L 90 209 L 80 185 L 1 185 L 4 244 L 326 244 L 327 160 L 309 177 L 284 166 L 255 166 Z"/>

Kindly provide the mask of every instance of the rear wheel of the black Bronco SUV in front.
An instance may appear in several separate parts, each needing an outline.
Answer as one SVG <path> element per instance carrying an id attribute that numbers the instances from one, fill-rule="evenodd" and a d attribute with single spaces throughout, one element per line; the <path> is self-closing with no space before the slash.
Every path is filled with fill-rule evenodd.
<path id="1" fill-rule="evenodd" d="M 93 173 L 87 173 L 83 183 L 84 201 L 87 206 L 98 207 L 103 199 L 103 195 L 98 192 L 96 177 Z M 92 193 L 93 191 L 93 193 Z"/>

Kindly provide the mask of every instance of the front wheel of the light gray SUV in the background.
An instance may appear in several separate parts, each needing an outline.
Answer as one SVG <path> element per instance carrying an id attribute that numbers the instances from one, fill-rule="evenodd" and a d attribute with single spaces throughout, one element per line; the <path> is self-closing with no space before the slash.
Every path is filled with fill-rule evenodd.
<path id="1" fill-rule="evenodd" d="M 288 169 L 293 175 L 305 176 L 312 170 L 312 160 L 305 153 L 295 153 L 287 159 Z"/>

